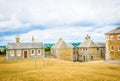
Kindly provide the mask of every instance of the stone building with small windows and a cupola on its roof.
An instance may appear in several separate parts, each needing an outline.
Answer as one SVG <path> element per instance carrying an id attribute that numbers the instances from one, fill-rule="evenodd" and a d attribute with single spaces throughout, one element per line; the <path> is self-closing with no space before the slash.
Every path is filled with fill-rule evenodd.
<path id="1" fill-rule="evenodd" d="M 77 61 L 100 60 L 105 57 L 105 43 L 94 42 L 87 35 L 85 41 L 78 46 Z"/>

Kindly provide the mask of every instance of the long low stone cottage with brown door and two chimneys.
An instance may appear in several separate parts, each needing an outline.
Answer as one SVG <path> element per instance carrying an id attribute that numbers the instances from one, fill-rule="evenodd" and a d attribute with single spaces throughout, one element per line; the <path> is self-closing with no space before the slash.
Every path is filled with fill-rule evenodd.
<path id="1" fill-rule="evenodd" d="M 6 45 L 6 60 L 12 59 L 30 59 L 42 58 L 44 56 L 44 47 L 42 42 L 20 42 L 20 38 L 16 38 L 16 42 Z"/>

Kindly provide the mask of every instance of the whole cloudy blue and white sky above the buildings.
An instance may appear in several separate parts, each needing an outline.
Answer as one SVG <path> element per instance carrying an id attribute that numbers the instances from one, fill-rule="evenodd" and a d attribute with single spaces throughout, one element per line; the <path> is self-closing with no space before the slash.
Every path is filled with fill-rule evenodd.
<path id="1" fill-rule="evenodd" d="M 0 45 L 15 42 L 105 42 L 120 26 L 120 0 L 0 0 Z"/>

